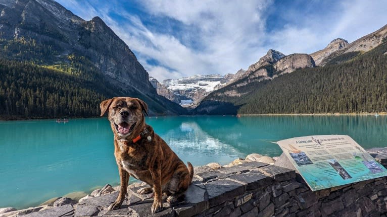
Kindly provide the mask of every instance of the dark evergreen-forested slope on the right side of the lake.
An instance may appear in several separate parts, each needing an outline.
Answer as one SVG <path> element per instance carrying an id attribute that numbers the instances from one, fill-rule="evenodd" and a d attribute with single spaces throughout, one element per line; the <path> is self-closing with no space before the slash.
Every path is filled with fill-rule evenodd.
<path id="1" fill-rule="evenodd" d="M 233 87 L 227 86 L 206 97 L 194 113 L 387 112 L 386 51 L 384 40 L 362 55 L 350 53 L 324 67 L 299 69 L 272 81 L 250 83 L 242 96 L 221 96 L 221 92 L 232 91 Z"/>

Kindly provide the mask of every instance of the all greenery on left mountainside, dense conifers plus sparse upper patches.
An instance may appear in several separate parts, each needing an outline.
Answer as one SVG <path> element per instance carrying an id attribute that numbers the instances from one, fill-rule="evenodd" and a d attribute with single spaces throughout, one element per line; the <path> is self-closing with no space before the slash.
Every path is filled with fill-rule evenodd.
<path id="1" fill-rule="evenodd" d="M 160 115 L 185 113 L 156 91 L 119 88 L 87 57 L 63 54 L 54 41 L 0 39 L 0 56 L 0 119 L 96 117 L 101 101 L 116 96 L 140 98 Z"/>

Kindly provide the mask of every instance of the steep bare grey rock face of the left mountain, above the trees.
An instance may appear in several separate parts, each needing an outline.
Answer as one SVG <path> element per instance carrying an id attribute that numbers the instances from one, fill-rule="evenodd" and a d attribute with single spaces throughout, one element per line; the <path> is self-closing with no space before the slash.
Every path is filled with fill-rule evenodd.
<path id="1" fill-rule="evenodd" d="M 143 95 L 148 103 L 167 108 L 166 113 L 183 112 L 160 98 L 134 53 L 101 18 L 85 21 L 52 0 L 2 0 L 0 11 L 2 43 L 27 41 L 33 49 L 45 46 L 42 52 L 46 52 L 44 56 L 37 52 L 22 57 L 11 53 L 7 58 L 66 65 L 69 56 L 75 55 L 98 68 L 112 85 Z"/>

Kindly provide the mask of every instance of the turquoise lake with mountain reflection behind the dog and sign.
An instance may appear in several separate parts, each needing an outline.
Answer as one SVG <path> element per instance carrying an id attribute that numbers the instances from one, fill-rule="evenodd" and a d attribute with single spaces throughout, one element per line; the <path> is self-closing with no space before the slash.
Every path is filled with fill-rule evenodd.
<path id="1" fill-rule="evenodd" d="M 194 166 L 224 165 L 251 153 L 279 156 L 270 141 L 314 134 L 350 135 L 365 149 L 387 146 L 387 116 L 180 116 L 147 117 L 147 123 Z M 0 207 L 36 206 L 119 183 L 106 117 L 0 121 L 0 148 Z"/>

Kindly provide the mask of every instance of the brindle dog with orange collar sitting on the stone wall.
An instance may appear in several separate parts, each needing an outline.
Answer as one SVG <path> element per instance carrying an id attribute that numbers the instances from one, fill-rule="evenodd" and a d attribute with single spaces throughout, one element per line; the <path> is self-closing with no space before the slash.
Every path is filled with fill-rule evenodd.
<path id="1" fill-rule="evenodd" d="M 121 190 L 109 210 L 118 209 L 125 199 L 129 176 L 153 187 L 152 212 L 163 207 L 162 194 L 174 203 L 192 182 L 193 167 L 188 167 L 169 148 L 167 143 L 145 123 L 142 112 L 148 115 L 148 105 L 140 99 L 114 97 L 101 103 L 101 116 L 109 111 L 109 121 L 114 133 L 114 156 L 120 173 Z M 139 189 L 149 193 L 151 187 Z"/>

